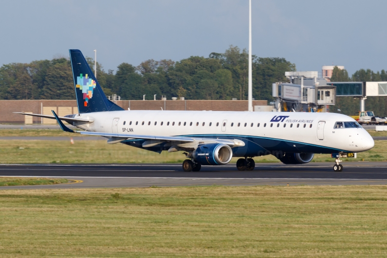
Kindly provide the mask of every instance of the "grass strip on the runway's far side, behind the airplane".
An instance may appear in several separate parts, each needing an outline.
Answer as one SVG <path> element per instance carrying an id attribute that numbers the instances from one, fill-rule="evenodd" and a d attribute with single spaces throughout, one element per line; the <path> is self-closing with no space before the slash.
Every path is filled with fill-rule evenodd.
<path id="1" fill-rule="evenodd" d="M 3 136 L 74 136 L 60 130 L 0 130 Z M 161 154 L 106 141 L 83 140 L 85 136 L 69 141 L 0 140 L 0 163 L 182 163 L 182 151 Z M 87 137 L 87 136 L 86 136 Z M 235 163 L 238 158 L 233 158 Z M 357 159 L 344 161 L 387 161 L 387 141 L 375 141 L 375 147 L 357 154 Z M 279 162 L 272 155 L 256 157 L 256 162 Z M 315 154 L 312 162 L 334 162 L 330 154 Z"/>

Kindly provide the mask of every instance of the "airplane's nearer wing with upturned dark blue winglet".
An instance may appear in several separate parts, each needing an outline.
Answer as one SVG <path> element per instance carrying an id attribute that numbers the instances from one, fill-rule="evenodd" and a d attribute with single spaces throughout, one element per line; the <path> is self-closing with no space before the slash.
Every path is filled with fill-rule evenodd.
<path id="1" fill-rule="evenodd" d="M 148 140 L 147 143 L 145 143 L 146 145 L 143 145 L 143 147 L 152 147 L 163 142 L 176 142 L 176 143 L 177 142 L 180 142 L 180 143 L 199 142 L 200 143 L 200 141 L 202 140 L 223 143 L 223 144 L 229 145 L 230 147 L 244 146 L 243 141 L 240 141 L 240 140 L 207 139 L 207 138 L 202 139 L 202 138 L 182 137 L 182 136 L 157 136 L 157 135 L 142 135 L 142 134 L 120 134 L 120 133 L 106 133 L 106 132 L 74 131 L 72 129 L 69 129 L 63 124 L 63 122 L 61 121 L 62 119 L 56 115 L 55 111 L 52 110 L 52 112 L 62 130 L 67 132 L 80 133 L 82 135 L 94 135 L 94 136 L 107 137 L 109 138 L 108 140 L 109 144 L 115 144 L 125 140 L 141 139 L 141 140 Z"/>

